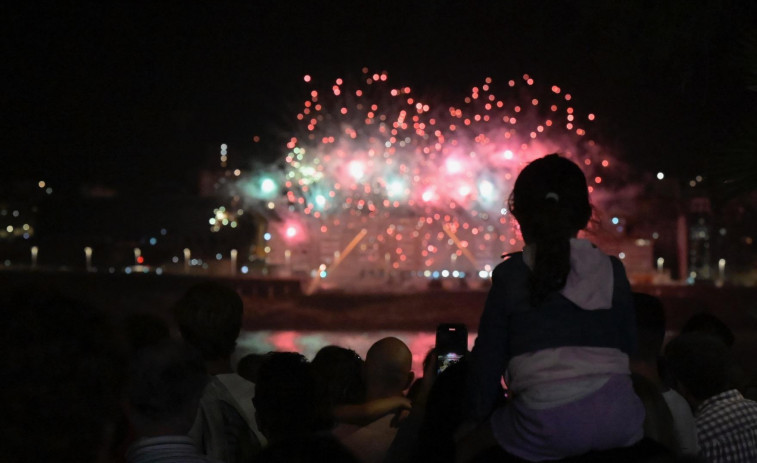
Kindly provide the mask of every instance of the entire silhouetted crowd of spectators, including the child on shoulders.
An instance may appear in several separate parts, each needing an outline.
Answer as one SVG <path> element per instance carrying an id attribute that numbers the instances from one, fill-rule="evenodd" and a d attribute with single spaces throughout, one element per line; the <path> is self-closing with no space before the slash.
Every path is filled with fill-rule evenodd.
<path id="1" fill-rule="evenodd" d="M 494 270 L 473 349 L 443 371 L 432 349 L 420 378 L 394 337 L 364 359 L 332 345 L 232 364 L 243 302 L 213 282 L 172 320 L 118 325 L 52 291 L 3 295 L 0 461 L 757 462 L 733 333 L 700 313 L 665 342 L 660 300 L 578 238 L 580 169 L 533 161 L 508 206 L 525 248 Z"/>

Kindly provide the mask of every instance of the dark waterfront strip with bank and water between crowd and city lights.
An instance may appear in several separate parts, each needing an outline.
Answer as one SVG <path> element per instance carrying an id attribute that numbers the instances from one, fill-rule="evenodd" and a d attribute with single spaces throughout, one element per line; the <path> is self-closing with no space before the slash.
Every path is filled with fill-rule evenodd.
<path id="1" fill-rule="evenodd" d="M 171 305 L 200 277 L 85 272 L 0 272 L 0 291 L 53 288 L 109 312 L 116 322 L 135 313 L 171 321 Z M 439 323 L 465 323 L 471 332 L 486 299 L 485 290 L 426 290 L 407 294 L 317 293 L 305 296 L 296 280 L 218 280 L 233 286 L 245 302 L 240 352 L 297 349 L 306 355 L 329 343 L 365 354 L 371 342 L 396 335 L 413 346 L 416 360 L 433 344 Z M 36 289 L 35 289 L 36 288 Z M 734 352 L 757 371 L 757 288 L 737 286 L 637 286 L 662 299 L 667 329 L 676 333 L 698 312 L 710 312 L 734 332 Z"/>

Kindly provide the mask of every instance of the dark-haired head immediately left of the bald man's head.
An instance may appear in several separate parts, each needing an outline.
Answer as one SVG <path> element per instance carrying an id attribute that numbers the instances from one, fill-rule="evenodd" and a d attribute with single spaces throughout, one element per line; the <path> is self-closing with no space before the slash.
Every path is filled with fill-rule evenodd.
<path id="1" fill-rule="evenodd" d="M 318 391 L 329 407 L 358 404 L 365 400 L 363 359 L 352 349 L 321 348 L 311 363 Z"/>

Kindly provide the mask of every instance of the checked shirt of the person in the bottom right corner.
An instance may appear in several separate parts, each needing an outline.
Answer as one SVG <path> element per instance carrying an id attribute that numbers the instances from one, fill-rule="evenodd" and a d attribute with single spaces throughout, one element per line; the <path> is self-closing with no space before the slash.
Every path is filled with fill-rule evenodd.
<path id="1" fill-rule="evenodd" d="M 757 402 L 731 389 L 697 408 L 700 454 L 710 463 L 757 462 Z"/>

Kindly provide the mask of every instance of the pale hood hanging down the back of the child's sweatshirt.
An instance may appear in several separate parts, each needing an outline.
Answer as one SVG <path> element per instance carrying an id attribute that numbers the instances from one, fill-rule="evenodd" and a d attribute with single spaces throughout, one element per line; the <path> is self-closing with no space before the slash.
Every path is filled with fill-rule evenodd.
<path id="1" fill-rule="evenodd" d="M 523 248 L 523 261 L 533 270 L 534 249 Z M 560 294 L 584 310 L 612 307 L 614 277 L 612 262 L 591 242 L 570 240 L 570 273 Z"/>

